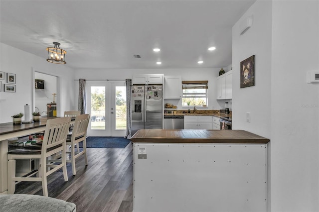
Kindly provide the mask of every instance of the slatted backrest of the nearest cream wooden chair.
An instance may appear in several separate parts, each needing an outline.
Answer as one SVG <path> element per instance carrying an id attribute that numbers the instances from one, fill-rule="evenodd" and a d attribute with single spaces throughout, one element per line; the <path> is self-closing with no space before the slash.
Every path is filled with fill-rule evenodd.
<path id="1" fill-rule="evenodd" d="M 69 132 L 71 117 L 61 117 L 48 119 L 46 121 L 43 141 L 42 153 L 49 148 L 54 148 L 60 144 L 66 143 Z"/>

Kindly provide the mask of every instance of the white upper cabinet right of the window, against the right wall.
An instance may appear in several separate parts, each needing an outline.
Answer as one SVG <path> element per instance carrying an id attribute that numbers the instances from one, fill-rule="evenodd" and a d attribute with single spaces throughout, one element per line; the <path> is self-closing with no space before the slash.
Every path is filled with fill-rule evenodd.
<path id="1" fill-rule="evenodd" d="M 217 77 L 217 100 L 232 99 L 232 77 L 232 70 Z"/>

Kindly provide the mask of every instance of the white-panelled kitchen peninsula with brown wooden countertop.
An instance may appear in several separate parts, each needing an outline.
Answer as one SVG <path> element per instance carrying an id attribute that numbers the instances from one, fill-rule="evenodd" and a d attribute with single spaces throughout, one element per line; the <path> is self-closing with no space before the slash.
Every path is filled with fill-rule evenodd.
<path id="1" fill-rule="evenodd" d="M 244 130 L 139 130 L 134 211 L 266 211 L 266 144 Z"/>

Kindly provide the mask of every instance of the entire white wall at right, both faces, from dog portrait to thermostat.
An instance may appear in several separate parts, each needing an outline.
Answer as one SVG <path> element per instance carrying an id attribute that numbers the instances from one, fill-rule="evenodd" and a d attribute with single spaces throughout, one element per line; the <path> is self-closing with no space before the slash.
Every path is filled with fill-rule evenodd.
<path id="1" fill-rule="evenodd" d="M 319 70 L 318 38 L 319 1 L 256 1 L 233 27 L 233 128 L 271 139 L 268 211 L 319 211 L 319 84 L 306 83 Z M 240 89 L 240 61 L 253 54 L 255 86 Z"/>

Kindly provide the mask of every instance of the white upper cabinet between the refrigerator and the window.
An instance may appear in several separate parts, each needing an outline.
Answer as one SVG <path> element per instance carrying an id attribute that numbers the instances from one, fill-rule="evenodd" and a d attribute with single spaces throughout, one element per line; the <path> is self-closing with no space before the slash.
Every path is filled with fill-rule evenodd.
<path id="1" fill-rule="evenodd" d="M 181 97 L 181 76 L 164 76 L 164 99 L 180 99 Z"/>

